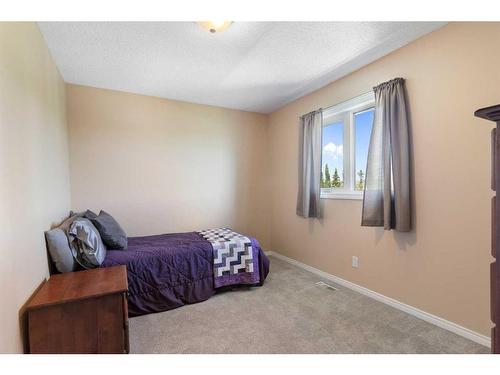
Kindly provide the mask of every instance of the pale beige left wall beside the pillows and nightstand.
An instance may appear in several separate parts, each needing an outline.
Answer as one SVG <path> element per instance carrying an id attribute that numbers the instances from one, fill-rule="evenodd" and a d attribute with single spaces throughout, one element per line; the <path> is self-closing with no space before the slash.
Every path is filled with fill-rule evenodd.
<path id="1" fill-rule="evenodd" d="M 0 352 L 48 275 L 43 232 L 68 214 L 64 83 L 34 23 L 0 22 Z"/>

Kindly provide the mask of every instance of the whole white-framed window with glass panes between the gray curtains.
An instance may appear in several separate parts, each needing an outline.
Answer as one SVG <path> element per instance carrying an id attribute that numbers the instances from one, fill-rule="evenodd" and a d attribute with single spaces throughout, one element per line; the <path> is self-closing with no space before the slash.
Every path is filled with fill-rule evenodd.
<path id="1" fill-rule="evenodd" d="M 323 111 L 321 198 L 363 198 L 373 105 L 370 92 Z"/>

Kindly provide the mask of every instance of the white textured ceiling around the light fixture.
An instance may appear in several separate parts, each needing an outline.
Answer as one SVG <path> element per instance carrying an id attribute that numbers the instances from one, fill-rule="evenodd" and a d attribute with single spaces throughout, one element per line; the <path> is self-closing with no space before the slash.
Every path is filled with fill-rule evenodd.
<path id="1" fill-rule="evenodd" d="M 438 22 L 42 22 L 66 82 L 272 112 Z"/>

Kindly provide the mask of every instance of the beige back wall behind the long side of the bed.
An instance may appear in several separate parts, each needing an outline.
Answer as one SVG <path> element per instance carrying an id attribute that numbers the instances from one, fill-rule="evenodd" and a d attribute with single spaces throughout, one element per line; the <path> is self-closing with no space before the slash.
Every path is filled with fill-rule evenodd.
<path id="1" fill-rule="evenodd" d="M 71 199 L 130 236 L 231 226 L 268 247 L 267 118 L 67 85 Z"/>

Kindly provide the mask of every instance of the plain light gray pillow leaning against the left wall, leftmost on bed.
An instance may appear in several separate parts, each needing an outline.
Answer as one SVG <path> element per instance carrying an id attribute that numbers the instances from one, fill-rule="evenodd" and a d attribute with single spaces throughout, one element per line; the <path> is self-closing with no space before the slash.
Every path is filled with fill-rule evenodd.
<path id="1" fill-rule="evenodd" d="M 75 219 L 76 216 L 71 216 L 57 228 L 45 232 L 50 257 L 59 272 L 72 272 L 78 267 L 67 235 L 69 227 Z"/>

